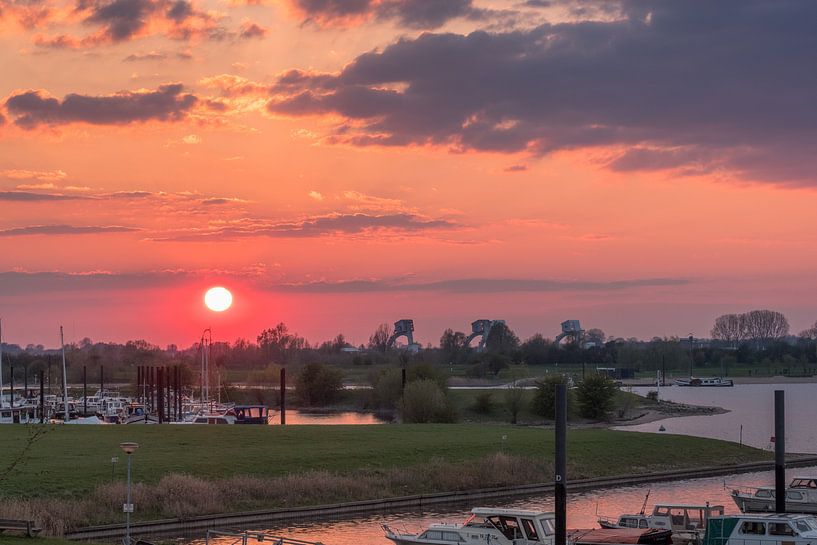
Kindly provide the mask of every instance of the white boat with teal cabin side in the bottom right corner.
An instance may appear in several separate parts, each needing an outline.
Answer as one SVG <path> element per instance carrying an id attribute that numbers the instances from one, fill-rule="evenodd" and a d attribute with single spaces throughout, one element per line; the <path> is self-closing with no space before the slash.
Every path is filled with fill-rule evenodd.
<path id="1" fill-rule="evenodd" d="M 811 515 L 730 515 L 712 517 L 703 545 L 811 545 L 817 519 Z"/>

